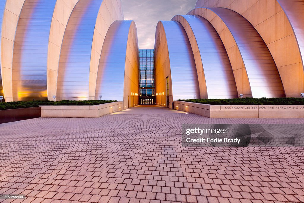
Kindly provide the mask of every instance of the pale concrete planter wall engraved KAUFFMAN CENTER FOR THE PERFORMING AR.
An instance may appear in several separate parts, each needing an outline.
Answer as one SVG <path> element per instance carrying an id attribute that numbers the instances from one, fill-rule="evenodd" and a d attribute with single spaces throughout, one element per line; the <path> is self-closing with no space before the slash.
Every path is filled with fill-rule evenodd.
<path id="1" fill-rule="evenodd" d="M 304 105 L 210 105 L 174 101 L 174 109 L 209 118 L 304 118 Z"/>

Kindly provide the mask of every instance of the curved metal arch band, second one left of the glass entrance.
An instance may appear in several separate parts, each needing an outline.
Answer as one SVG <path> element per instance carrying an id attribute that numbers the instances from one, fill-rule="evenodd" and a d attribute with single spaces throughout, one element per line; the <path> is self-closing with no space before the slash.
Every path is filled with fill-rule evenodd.
<path id="1" fill-rule="evenodd" d="M 58 99 L 88 100 L 94 27 L 102 0 L 80 0 L 64 33 L 57 80 Z"/>

